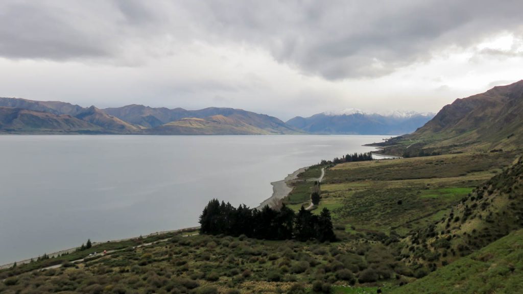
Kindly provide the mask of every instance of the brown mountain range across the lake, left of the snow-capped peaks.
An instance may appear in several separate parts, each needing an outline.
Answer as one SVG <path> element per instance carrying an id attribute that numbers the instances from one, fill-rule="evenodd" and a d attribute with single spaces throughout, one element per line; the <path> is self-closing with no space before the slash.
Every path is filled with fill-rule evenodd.
<path id="1" fill-rule="evenodd" d="M 20 98 L 0 98 L 0 107 L 25 109 L 41 112 L 32 115 L 48 114 L 49 119 L 60 121 L 62 116 L 89 123 L 85 128 L 104 133 L 121 134 L 293 134 L 302 131 L 286 125 L 285 122 L 268 115 L 256 114 L 251 111 L 233 108 L 210 107 L 200 110 L 186 110 L 183 108 L 168 109 L 152 108 L 143 105 L 128 105 L 119 108 L 98 109 L 95 106 L 83 108 L 60 101 L 33 101 Z M 7 112 L 6 112 L 7 113 Z M 50 116 L 52 115 L 52 116 Z M 1 119 L 1 118 L 0 118 Z M 55 123 L 58 130 L 59 123 Z M 38 127 L 37 121 L 31 122 L 31 132 L 38 129 L 47 130 L 42 122 Z M 62 126 L 65 126 L 62 124 Z M 8 125 L 4 125 L 6 132 Z M 28 129 L 19 125 L 16 132 Z M 2 129 L 0 129 L 1 131 Z M 75 132 L 83 128 L 65 128 L 64 132 Z"/>

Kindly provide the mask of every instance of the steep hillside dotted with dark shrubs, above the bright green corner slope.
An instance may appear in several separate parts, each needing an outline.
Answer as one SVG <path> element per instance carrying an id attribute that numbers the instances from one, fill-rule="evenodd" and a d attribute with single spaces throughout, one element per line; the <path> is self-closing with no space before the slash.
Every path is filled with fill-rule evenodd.
<path id="1" fill-rule="evenodd" d="M 465 194 L 441 220 L 408 236 L 403 256 L 434 267 L 523 228 L 523 160 Z"/>

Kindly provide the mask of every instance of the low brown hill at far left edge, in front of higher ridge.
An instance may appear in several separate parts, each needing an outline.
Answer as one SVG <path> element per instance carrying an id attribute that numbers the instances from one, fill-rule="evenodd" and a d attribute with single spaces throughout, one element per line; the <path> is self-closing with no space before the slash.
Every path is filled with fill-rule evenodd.
<path id="1" fill-rule="evenodd" d="M 103 128 L 70 115 L 0 107 L 0 133 L 100 133 Z"/>

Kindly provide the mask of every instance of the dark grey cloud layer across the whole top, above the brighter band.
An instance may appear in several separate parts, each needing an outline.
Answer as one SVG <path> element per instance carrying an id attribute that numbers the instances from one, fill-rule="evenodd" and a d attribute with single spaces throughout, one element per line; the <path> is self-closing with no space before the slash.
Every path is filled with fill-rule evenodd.
<path id="1" fill-rule="evenodd" d="M 169 38 L 174 51 L 195 40 L 248 43 L 305 74 L 372 77 L 495 33 L 520 34 L 522 9 L 516 0 L 7 2 L 0 55 L 119 59 L 129 46 Z"/>

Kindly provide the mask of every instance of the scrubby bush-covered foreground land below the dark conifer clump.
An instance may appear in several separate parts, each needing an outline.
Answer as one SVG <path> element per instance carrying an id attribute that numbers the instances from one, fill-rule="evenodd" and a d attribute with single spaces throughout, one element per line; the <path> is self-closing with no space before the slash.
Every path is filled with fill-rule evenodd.
<path id="1" fill-rule="evenodd" d="M 372 283 L 378 277 L 374 268 L 382 268 L 387 277 L 392 274 L 390 265 L 400 268 L 380 244 L 369 244 L 367 251 L 357 254 L 342 242 L 263 241 L 190 232 L 155 240 L 100 244 L 84 255 L 107 248 L 116 251 L 76 263 L 65 261 L 65 256 L 63 266 L 44 271 L 31 269 L 48 266 L 53 259 L 2 270 L 0 293 L 304 293 L 314 287 L 319 287 L 314 292 L 343 293 L 346 286 L 358 283 L 353 273 L 367 273 L 360 279 Z M 376 291 L 374 286 L 358 288 Z"/>

